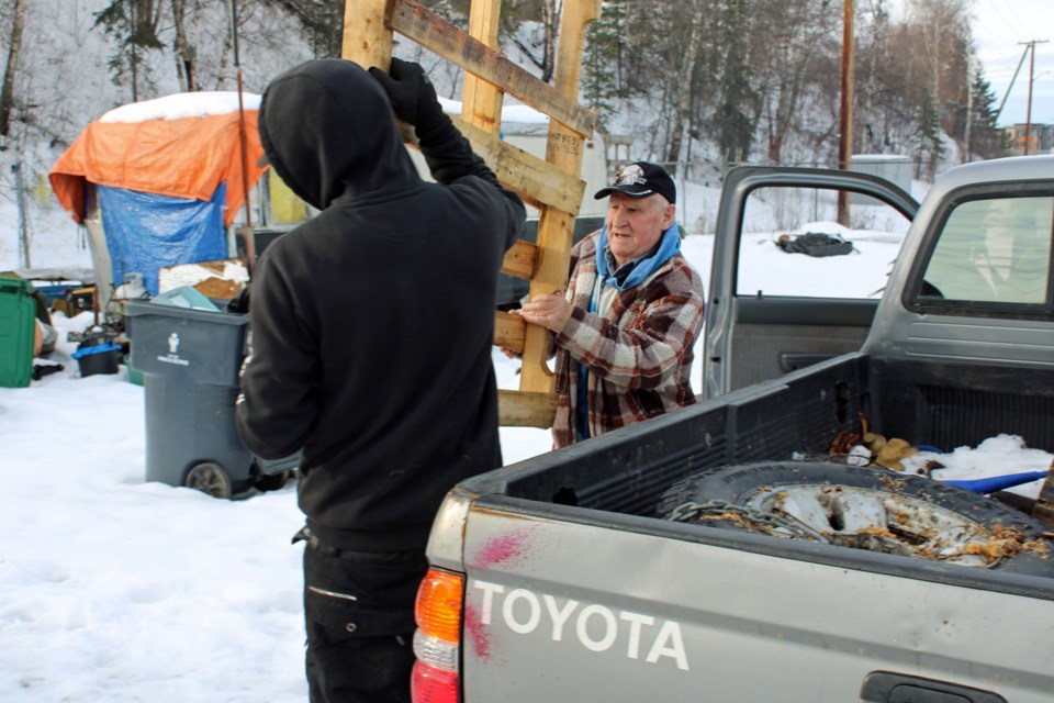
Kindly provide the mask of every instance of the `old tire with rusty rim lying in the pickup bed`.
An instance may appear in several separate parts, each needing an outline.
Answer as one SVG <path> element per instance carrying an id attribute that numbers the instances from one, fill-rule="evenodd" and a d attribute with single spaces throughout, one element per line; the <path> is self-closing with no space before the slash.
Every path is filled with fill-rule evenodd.
<path id="1" fill-rule="evenodd" d="M 1054 577 L 1054 542 L 1027 514 L 881 468 L 769 461 L 706 469 L 672 486 L 659 513 L 677 522 Z"/>

